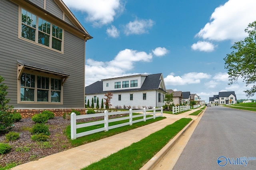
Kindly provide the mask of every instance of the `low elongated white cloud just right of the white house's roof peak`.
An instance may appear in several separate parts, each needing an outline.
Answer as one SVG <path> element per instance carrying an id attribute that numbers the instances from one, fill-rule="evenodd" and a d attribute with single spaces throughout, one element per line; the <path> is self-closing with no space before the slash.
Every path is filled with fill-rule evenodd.
<path id="1" fill-rule="evenodd" d="M 166 85 L 188 85 L 188 84 L 198 84 L 201 79 L 209 79 L 210 75 L 207 73 L 186 73 L 180 76 L 174 76 L 173 73 L 167 75 L 164 78 L 164 82 Z"/>

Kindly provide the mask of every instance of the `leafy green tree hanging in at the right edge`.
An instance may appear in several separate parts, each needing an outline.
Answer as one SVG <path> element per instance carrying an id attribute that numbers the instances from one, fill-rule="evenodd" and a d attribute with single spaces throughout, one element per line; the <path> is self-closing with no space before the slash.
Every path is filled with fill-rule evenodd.
<path id="1" fill-rule="evenodd" d="M 224 58 L 225 69 L 228 69 L 229 85 L 237 83 L 241 77 L 246 86 L 253 84 L 250 90 L 244 91 L 246 96 L 253 96 L 256 93 L 256 21 L 248 24 L 245 32 L 248 37 L 235 42 L 231 47 L 234 51 Z"/>

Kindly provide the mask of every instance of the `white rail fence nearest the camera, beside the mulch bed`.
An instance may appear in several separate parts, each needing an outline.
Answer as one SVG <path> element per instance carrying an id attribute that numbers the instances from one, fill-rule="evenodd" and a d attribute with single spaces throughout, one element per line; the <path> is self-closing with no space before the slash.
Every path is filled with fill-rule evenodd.
<path id="1" fill-rule="evenodd" d="M 153 111 L 153 112 L 147 112 L 147 111 Z M 139 112 L 143 112 L 143 114 L 132 115 L 132 113 L 139 113 Z M 115 118 L 115 119 L 108 119 L 108 116 L 122 115 L 122 114 L 129 114 L 129 116 L 128 117 Z M 156 115 L 156 114 L 158 114 L 158 115 Z M 147 115 L 152 115 L 152 116 L 151 117 L 146 117 Z M 132 125 L 133 123 L 137 123 L 137 122 L 141 122 L 141 121 L 145 122 L 148 119 L 156 119 L 156 117 L 162 117 L 162 116 L 163 116 L 163 107 L 161 107 L 161 108 L 155 108 L 154 107 L 153 109 L 143 108 L 141 110 L 134 110 L 134 111 L 132 109 L 130 109 L 129 111 L 119 111 L 119 112 L 108 112 L 106 110 L 106 111 L 104 111 L 104 113 L 95 113 L 95 114 L 90 114 L 90 115 L 76 115 L 76 113 L 71 113 L 71 115 L 70 115 L 70 119 L 71 119 L 71 139 L 73 140 L 73 139 L 76 139 L 76 138 L 81 137 L 81 136 L 86 136 L 88 134 L 93 134 L 93 133 L 97 133 L 97 132 L 101 132 L 101 131 L 106 132 L 109 129 L 123 127 L 123 126 L 126 126 L 126 125 Z M 92 117 L 104 117 L 104 120 L 90 122 L 90 123 L 82 123 L 82 124 L 76 125 L 76 120 L 92 118 Z M 132 121 L 132 119 L 136 118 L 136 117 L 142 117 L 142 119 Z M 123 121 L 123 120 L 127 120 L 127 119 L 129 119 L 129 122 L 109 126 L 109 123 L 111 123 L 111 122 Z M 86 131 L 86 132 L 76 133 L 76 129 L 78 129 L 78 128 L 90 127 L 90 126 L 100 125 L 100 124 L 104 124 L 104 127 L 97 128 L 97 129 L 94 129 L 94 130 L 89 130 L 89 131 Z"/>

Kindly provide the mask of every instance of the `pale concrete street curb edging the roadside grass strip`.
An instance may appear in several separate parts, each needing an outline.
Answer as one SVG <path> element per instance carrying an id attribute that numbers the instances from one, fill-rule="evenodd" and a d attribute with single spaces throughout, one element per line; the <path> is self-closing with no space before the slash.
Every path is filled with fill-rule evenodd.
<path id="1" fill-rule="evenodd" d="M 167 154 L 170 148 L 172 148 L 172 146 L 178 141 L 180 136 L 182 136 L 182 134 L 186 131 L 188 127 L 190 127 L 190 125 L 193 122 L 194 120 L 192 119 L 192 121 L 190 121 L 190 123 L 188 123 L 186 127 L 184 127 L 180 132 L 178 132 L 178 134 L 176 134 L 176 136 L 174 136 L 174 138 L 172 138 L 170 142 L 168 142 L 168 144 L 166 144 L 159 152 L 157 152 L 153 156 L 153 158 L 151 158 L 144 166 L 142 166 L 140 170 L 152 170 L 158 164 L 158 162 L 162 160 L 162 158 Z"/>

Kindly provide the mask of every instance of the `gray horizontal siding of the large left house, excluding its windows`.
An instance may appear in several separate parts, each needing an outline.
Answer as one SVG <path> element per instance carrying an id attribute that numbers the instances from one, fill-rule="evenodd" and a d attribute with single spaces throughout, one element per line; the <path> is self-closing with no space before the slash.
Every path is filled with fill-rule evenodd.
<path id="1" fill-rule="evenodd" d="M 18 6 L 0 3 L 0 75 L 14 108 L 83 108 L 84 40 L 64 31 L 64 54 L 18 38 Z M 54 24 L 54 23 L 53 23 Z M 63 87 L 63 105 L 17 104 L 17 59 L 48 65 L 70 74 Z"/>

